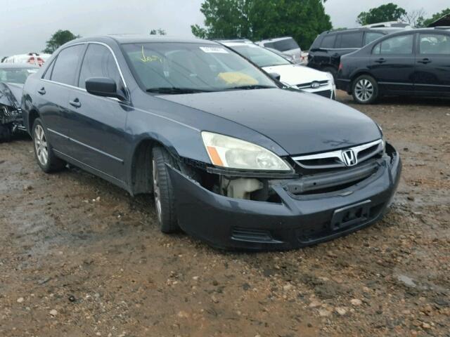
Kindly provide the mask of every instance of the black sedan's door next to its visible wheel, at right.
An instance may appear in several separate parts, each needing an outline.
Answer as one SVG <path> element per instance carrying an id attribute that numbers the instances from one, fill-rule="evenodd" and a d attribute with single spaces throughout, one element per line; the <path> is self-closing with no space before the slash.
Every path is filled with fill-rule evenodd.
<path id="1" fill-rule="evenodd" d="M 385 93 L 413 90 L 415 67 L 414 34 L 402 34 L 380 41 L 372 49 L 369 69 Z"/>

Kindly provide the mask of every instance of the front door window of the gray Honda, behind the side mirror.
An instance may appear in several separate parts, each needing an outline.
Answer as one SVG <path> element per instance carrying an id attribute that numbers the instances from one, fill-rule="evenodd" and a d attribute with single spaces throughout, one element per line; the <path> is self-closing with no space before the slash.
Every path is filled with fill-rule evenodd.
<path id="1" fill-rule="evenodd" d="M 79 74 L 78 86 L 86 88 L 86 79 L 90 77 L 109 77 L 122 87 L 122 79 L 113 54 L 108 48 L 100 44 L 89 44 Z"/>

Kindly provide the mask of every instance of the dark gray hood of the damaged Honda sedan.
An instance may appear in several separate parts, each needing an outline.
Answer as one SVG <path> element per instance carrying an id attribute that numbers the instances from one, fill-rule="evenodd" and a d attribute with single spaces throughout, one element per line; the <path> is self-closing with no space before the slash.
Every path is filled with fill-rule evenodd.
<path id="1" fill-rule="evenodd" d="M 312 93 L 279 88 L 220 91 L 158 98 L 234 121 L 274 140 L 289 154 L 308 154 L 369 143 L 381 137 L 361 112 Z M 218 121 L 214 129 L 221 132 Z"/>

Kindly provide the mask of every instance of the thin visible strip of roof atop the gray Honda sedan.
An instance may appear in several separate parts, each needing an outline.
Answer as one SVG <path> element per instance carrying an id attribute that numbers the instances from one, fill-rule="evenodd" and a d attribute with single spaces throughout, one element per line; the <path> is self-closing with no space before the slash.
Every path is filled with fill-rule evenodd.
<path id="1" fill-rule="evenodd" d="M 183 37 L 170 37 L 167 35 L 142 35 L 142 34 L 110 34 L 103 36 L 94 37 L 82 37 L 81 39 L 72 40 L 70 44 L 76 42 L 84 41 L 105 41 L 114 40 L 118 44 L 146 44 L 151 42 L 172 42 L 181 44 L 215 44 L 213 41 L 194 39 L 194 38 L 183 38 Z"/>

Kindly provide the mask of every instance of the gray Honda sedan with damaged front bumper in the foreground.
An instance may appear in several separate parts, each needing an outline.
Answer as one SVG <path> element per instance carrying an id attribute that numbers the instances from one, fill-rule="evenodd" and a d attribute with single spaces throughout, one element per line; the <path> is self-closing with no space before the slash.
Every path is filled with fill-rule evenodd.
<path id="1" fill-rule="evenodd" d="M 211 41 L 83 38 L 27 79 L 22 110 L 43 171 L 153 194 L 162 232 L 293 249 L 380 220 L 401 172 L 381 128 L 274 78 Z"/>

